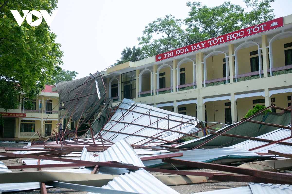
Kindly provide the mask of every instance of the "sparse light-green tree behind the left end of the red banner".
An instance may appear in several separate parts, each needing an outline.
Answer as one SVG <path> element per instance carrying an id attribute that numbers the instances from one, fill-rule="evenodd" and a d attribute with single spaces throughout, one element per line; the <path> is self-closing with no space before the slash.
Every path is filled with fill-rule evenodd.
<path id="1" fill-rule="evenodd" d="M 157 18 L 145 26 L 142 37 L 138 37 L 138 40 L 146 57 L 183 47 L 186 37 L 182 25 L 181 19 L 166 15 L 165 18 Z M 158 38 L 155 39 L 153 36 Z"/>

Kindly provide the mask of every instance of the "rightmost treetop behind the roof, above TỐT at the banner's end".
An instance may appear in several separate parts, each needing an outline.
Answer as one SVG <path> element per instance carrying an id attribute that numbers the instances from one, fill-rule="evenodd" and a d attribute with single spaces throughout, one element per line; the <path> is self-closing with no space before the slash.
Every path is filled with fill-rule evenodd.
<path id="1" fill-rule="evenodd" d="M 270 3 L 274 1 L 275 0 L 244 0 L 246 6 L 252 8 L 249 13 L 245 13 L 245 26 L 253 26 L 274 19 L 274 9 L 270 9 Z"/>

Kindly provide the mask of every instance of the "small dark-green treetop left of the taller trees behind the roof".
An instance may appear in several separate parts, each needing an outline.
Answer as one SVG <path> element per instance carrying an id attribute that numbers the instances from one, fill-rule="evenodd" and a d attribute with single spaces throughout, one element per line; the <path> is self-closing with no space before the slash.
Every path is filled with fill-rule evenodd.
<path id="1" fill-rule="evenodd" d="M 121 53 L 121 58 L 120 60 L 117 60 L 117 63 L 114 63 L 114 65 L 119 65 L 119 64 L 123 64 L 126 63 L 128 61 L 132 61 L 132 62 L 136 62 L 138 60 L 142 60 L 145 58 L 145 55 L 142 52 L 142 49 L 140 47 L 136 48 L 135 46 L 133 46 L 133 48 L 131 49 L 130 47 L 126 47 L 126 49 L 124 49 Z M 111 66 L 114 66 L 111 65 Z"/>

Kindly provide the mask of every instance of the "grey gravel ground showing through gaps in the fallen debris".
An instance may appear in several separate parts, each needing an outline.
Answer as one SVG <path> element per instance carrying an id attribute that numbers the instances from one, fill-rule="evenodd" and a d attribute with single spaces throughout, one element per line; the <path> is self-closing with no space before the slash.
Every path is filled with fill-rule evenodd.
<path id="1" fill-rule="evenodd" d="M 24 147 L 26 144 L 23 143 L 0 143 L 0 147 Z M 3 152 L 3 149 L 0 149 L 0 152 Z M 11 159 L 11 160 L 3 160 L 2 161 L 6 166 L 11 165 L 20 165 L 21 159 Z M 209 169 L 180 169 L 180 170 L 187 170 L 187 171 L 197 171 L 197 172 L 219 172 L 217 170 L 209 170 Z M 12 169 L 11 171 L 21 171 L 17 169 Z M 164 174 L 159 172 L 150 172 L 151 174 Z M 201 184 L 191 184 L 191 185 L 177 185 L 177 186 L 170 186 L 175 191 L 181 194 L 188 194 L 188 193 L 198 193 L 204 191 L 213 191 L 218 189 L 228 189 L 234 187 L 241 187 L 241 186 L 248 186 L 248 183 L 243 182 L 214 182 L 214 183 L 201 183 Z M 63 194 L 86 194 L 87 192 L 84 191 L 76 191 L 72 189 L 66 188 L 48 188 L 48 193 L 63 193 Z M 19 191 L 19 192 L 9 192 L 11 194 L 35 194 L 40 193 L 40 190 L 33 190 L 33 191 Z"/>

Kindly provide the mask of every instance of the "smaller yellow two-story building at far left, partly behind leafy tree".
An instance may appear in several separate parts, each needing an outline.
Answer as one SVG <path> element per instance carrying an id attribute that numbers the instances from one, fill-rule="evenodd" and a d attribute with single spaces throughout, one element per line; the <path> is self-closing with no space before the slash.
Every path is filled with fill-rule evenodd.
<path id="1" fill-rule="evenodd" d="M 53 92 L 55 86 L 46 85 L 34 99 L 24 99 L 20 95 L 21 106 L 7 112 L 0 107 L 4 125 L 0 125 L 0 140 L 28 140 L 47 136 L 58 123 L 59 95 Z M 34 110 L 26 110 L 23 103 L 31 100 Z"/>

